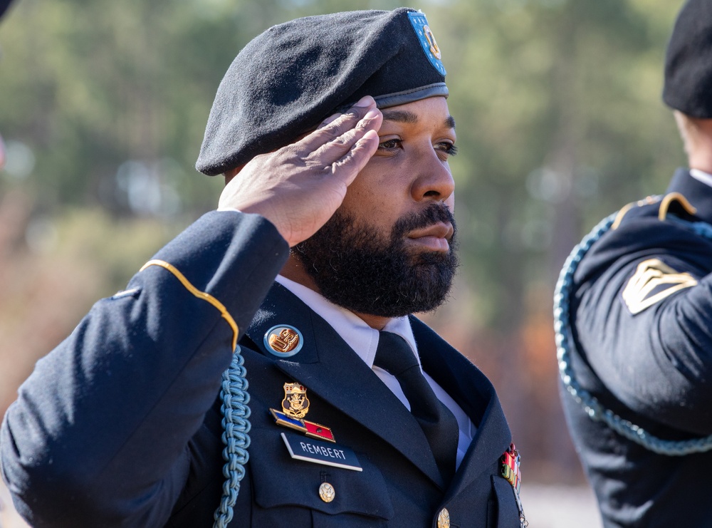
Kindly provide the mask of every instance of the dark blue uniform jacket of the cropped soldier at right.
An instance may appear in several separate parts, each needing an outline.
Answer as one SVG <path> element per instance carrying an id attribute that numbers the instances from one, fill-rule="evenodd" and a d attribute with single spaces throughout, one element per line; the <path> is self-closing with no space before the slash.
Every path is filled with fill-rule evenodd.
<path id="1" fill-rule="evenodd" d="M 619 226 L 582 259 L 572 299 L 575 378 L 606 408 L 664 440 L 712 434 L 712 241 L 676 217 L 712 223 L 712 188 L 686 170 L 676 172 L 665 199 L 622 210 Z M 646 283 L 650 291 L 638 291 L 638 301 L 654 302 L 637 311 L 622 292 L 651 259 L 669 269 Z M 671 290 L 681 284 L 674 274 L 693 280 Z M 606 527 L 712 526 L 712 452 L 657 455 L 591 420 L 565 391 L 562 400 Z"/>

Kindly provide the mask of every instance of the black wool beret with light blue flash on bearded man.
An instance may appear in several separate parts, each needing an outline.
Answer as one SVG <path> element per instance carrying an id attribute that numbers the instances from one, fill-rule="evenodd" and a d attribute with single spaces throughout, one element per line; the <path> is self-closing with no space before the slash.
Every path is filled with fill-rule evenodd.
<path id="1" fill-rule="evenodd" d="M 261 33 L 220 83 L 196 168 L 212 176 L 244 165 L 364 95 L 379 108 L 448 95 L 422 12 L 307 16 Z"/>

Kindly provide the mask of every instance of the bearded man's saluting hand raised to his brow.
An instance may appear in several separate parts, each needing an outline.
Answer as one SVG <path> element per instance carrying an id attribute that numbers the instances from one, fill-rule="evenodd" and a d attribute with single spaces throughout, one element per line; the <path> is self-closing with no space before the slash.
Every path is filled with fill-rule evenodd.
<path id="1" fill-rule="evenodd" d="M 303 242 L 330 219 L 376 152 L 382 118 L 367 96 L 296 143 L 253 157 L 229 180 L 218 208 L 261 214 L 290 247 Z"/>

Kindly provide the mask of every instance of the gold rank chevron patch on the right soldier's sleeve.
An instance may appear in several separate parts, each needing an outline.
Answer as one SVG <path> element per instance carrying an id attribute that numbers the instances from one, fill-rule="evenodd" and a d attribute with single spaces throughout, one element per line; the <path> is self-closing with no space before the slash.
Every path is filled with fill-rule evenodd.
<path id="1" fill-rule="evenodd" d="M 623 301 L 633 315 L 653 306 L 681 289 L 697 284 L 689 273 L 678 273 L 660 259 L 638 264 L 623 290 Z"/>

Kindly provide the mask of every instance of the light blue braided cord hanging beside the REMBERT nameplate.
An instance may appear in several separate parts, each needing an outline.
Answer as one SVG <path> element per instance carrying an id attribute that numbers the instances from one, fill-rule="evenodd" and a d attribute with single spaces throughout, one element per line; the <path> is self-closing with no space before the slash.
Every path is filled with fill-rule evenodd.
<path id="1" fill-rule="evenodd" d="M 240 346 L 235 348 L 232 356 L 232 363 L 222 376 L 222 388 L 220 396 L 223 404 L 220 406 L 223 414 L 222 441 L 225 444 L 223 458 L 226 464 L 223 466 L 223 475 L 226 478 L 223 483 L 223 496 L 220 499 L 220 506 L 213 515 L 215 523 L 213 528 L 225 528 L 232 520 L 232 509 L 237 501 L 237 494 L 240 491 L 240 481 L 245 476 L 245 465 L 248 460 L 247 448 L 250 445 L 250 408 L 247 404 L 250 395 L 247 393 L 247 371 L 243 366 L 245 363 L 242 357 Z"/>

